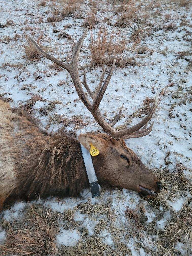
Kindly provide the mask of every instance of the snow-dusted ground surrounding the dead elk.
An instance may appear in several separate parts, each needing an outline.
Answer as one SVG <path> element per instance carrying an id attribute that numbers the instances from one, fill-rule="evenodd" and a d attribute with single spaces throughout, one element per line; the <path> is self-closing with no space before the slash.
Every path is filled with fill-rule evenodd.
<path id="1" fill-rule="evenodd" d="M 81 1 L 73 14 L 62 18 L 60 22 L 48 23 L 49 14 L 53 9 L 60 10 L 62 4 L 59 0 L 45 2 L 46 6 L 39 6 L 39 1 L 0 1 L 0 99 L 10 101 L 17 107 L 26 106 L 34 95 L 40 95 L 41 98 L 33 102 L 30 111 L 39 118 L 42 127 L 49 131 L 56 131 L 65 123 L 66 130 L 75 131 L 77 135 L 91 130 L 102 131 L 79 100 L 67 71 L 51 67 L 51 63 L 42 57 L 29 59 L 21 46 L 21 38 L 23 31 L 27 30 L 28 33 L 32 28 L 35 33 L 43 35 L 42 45 L 52 49 L 51 54 L 55 52 L 56 57 L 69 59 L 71 47 L 85 29 L 81 25 L 87 13 L 94 11 L 99 20 L 92 30 L 94 34 L 104 25 L 105 17 L 111 21 L 111 25 L 105 23 L 110 31 L 120 16 L 114 14 L 119 4 L 104 0 Z M 147 34 L 134 47 L 129 39 L 129 26 L 116 27 L 116 31 L 121 30 L 126 37 L 127 47 L 138 65 L 115 68 L 100 104 L 106 120 L 111 120 L 116 109 L 120 109 L 124 103 L 118 125 L 124 125 L 126 121 L 135 124 L 145 116 L 141 111 L 143 100 L 146 97 L 153 98 L 157 91 L 160 92 L 152 132 L 142 138 L 127 140 L 126 143 L 159 175 L 164 185 L 162 195 L 154 200 L 145 200 L 125 189 L 103 189 L 101 197 L 96 199 L 87 194 L 87 199 L 66 198 L 58 201 L 58 198 L 53 198 L 46 202 L 34 202 L 39 207 L 56 211 L 58 216 L 67 216 L 62 219 L 58 217 L 57 220 L 55 244 L 58 252 L 55 250 L 55 254 L 84 255 L 80 254 L 78 248 L 87 250 L 86 255 L 190 253 L 191 12 L 190 2 L 184 7 L 179 6 L 180 2 L 136 2 L 136 6 L 140 6 L 135 11 L 136 18 L 131 22 L 142 23 Z M 130 24 L 129 19 L 126 22 Z M 71 35 L 71 38 L 58 38 L 62 31 Z M 89 31 L 80 52 L 80 65 L 91 61 L 90 41 Z M 141 49 L 145 50 L 140 53 Z M 83 70 L 79 73 L 82 79 Z M 100 79 L 101 67 L 88 67 L 86 74 L 90 89 L 94 90 Z M 25 210 L 29 207 L 33 207 L 33 204 L 16 202 L 3 210 L 0 215 L 0 244 L 6 244 L 7 247 L 0 246 L 0 255 L 9 253 L 7 248 L 10 241 L 6 235 L 11 231 L 7 227 L 14 228 L 26 217 Z M 183 216 L 186 216 L 185 223 L 180 227 L 178 220 Z M 181 221 L 184 222 L 184 219 Z M 82 244 L 86 244 L 87 249 L 82 249 Z M 27 255 L 21 251 L 14 253 Z M 49 253 L 54 254 L 52 251 Z"/>

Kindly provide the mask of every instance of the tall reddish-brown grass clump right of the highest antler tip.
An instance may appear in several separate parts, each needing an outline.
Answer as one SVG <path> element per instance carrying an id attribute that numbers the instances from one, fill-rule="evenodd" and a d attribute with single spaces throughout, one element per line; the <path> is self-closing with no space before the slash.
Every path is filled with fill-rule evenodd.
<path id="1" fill-rule="evenodd" d="M 94 66 L 111 66 L 116 59 L 116 66 L 135 65 L 134 58 L 127 52 L 126 38 L 120 31 L 100 29 L 97 35 L 91 33 L 91 62 Z"/>

